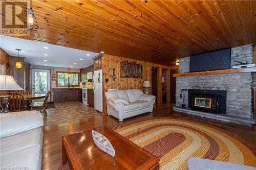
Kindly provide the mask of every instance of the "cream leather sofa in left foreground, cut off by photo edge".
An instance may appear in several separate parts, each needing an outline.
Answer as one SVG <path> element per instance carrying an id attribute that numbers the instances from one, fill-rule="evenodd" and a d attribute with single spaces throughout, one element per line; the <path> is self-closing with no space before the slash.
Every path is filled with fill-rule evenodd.
<path id="1" fill-rule="evenodd" d="M 44 120 L 39 111 L 0 114 L 1 169 L 41 169 Z"/>

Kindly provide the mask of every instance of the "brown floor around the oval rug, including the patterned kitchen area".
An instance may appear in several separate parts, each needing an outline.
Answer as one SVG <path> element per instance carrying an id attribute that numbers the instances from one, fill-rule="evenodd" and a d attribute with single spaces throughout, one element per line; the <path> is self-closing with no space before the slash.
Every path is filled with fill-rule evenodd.
<path id="1" fill-rule="evenodd" d="M 212 126 L 219 127 L 228 132 L 243 137 L 256 145 L 256 126 L 246 127 L 226 122 L 217 122 L 215 120 L 200 118 L 198 116 L 188 115 L 172 111 L 172 104 L 159 104 L 153 113 L 145 113 L 132 118 L 124 119 L 119 122 L 118 119 L 102 115 L 94 111 L 90 106 L 85 106 L 80 102 L 56 103 L 56 108 L 47 109 L 48 116 L 45 125 L 42 127 L 44 131 L 44 141 L 42 149 L 42 169 L 57 169 L 61 164 L 61 136 L 72 134 L 75 132 L 89 130 L 98 126 L 106 125 L 113 127 L 118 124 L 131 122 L 138 118 L 170 116 L 188 118 L 197 122 L 202 122 Z"/>

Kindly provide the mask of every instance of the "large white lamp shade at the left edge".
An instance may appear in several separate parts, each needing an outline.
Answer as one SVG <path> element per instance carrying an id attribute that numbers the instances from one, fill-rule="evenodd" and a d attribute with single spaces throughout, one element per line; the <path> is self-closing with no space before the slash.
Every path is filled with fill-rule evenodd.
<path id="1" fill-rule="evenodd" d="M 0 75 L 0 90 L 23 90 L 12 76 Z"/>

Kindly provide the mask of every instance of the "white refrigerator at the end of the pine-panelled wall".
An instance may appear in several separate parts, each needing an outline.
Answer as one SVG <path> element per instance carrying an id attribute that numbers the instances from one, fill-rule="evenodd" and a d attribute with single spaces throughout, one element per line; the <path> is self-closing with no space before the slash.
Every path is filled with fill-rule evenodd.
<path id="1" fill-rule="evenodd" d="M 94 91 L 94 109 L 102 113 L 103 96 L 102 96 L 102 69 L 94 71 L 93 74 L 93 91 Z"/>

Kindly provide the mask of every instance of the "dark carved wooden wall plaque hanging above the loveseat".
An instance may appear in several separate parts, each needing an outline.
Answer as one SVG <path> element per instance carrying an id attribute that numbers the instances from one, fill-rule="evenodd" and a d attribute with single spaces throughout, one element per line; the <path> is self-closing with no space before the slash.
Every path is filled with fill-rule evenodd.
<path id="1" fill-rule="evenodd" d="M 136 62 L 128 62 L 127 60 L 121 62 L 121 77 L 126 78 L 142 78 L 142 65 Z"/>

